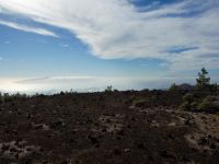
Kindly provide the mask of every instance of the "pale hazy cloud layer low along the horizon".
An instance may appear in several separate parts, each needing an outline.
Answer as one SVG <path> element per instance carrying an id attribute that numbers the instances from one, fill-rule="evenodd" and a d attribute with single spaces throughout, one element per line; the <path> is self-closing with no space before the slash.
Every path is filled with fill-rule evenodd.
<path id="1" fill-rule="evenodd" d="M 94 92 L 104 91 L 107 85 L 117 90 L 166 89 L 171 83 L 181 83 L 182 79 L 165 78 L 130 78 L 130 77 L 43 77 L 43 78 L 0 78 L 0 92 L 9 93 L 50 93 L 60 91 Z M 184 82 L 193 83 L 193 78 L 184 78 Z"/>

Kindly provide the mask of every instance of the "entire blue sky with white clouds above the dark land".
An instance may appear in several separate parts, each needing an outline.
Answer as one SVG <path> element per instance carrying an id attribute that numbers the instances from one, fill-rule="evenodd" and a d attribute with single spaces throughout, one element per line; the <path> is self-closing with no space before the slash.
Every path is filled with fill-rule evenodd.
<path id="1" fill-rule="evenodd" d="M 0 91 L 219 79 L 218 0 L 0 0 Z"/>

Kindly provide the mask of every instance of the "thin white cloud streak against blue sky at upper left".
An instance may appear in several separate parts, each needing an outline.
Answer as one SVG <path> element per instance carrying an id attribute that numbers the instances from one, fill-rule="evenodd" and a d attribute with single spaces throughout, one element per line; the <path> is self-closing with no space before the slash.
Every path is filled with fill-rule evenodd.
<path id="1" fill-rule="evenodd" d="M 18 24 L 18 23 L 8 22 L 8 21 L 1 21 L 1 20 L 0 20 L 0 24 L 9 26 L 9 27 L 12 27 L 12 28 L 15 28 L 15 30 L 20 30 L 20 31 L 23 31 L 23 32 L 58 37 L 55 33 L 53 33 L 50 31 L 47 31 L 47 30 L 44 30 L 44 28 L 31 27 L 31 26 L 21 25 L 21 24 Z M 9 44 L 9 42 L 5 42 L 5 44 Z"/>

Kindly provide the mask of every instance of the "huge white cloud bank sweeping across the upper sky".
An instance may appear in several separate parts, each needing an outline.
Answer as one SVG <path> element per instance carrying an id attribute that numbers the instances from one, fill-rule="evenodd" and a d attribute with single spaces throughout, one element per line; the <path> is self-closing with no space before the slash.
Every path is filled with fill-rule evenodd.
<path id="1" fill-rule="evenodd" d="M 216 0 L 150 8 L 137 8 L 130 0 L 0 0 L 0 9 L 66 28 L 103 59 L 158 58 L 172 70 L 219 68 Z"/>

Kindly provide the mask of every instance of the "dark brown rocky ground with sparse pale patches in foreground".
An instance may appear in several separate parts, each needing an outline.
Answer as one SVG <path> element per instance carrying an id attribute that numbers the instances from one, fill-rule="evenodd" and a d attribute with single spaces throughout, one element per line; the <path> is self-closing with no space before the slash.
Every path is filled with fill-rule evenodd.
<path id="1" fill-rule="evenodd" d="M 132 101 L 150 96 L 64 94 L 1 104 L 0 163 L 218 164 L 219 115 Z"/>

